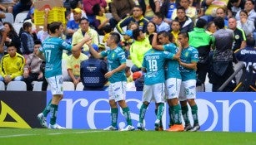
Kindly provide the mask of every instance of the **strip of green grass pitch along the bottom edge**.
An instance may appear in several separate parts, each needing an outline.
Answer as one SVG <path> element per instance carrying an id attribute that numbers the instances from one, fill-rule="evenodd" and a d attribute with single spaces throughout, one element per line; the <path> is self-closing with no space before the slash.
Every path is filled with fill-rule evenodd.
<path id="1" fill-rule="evenodd" d="M 253 145 L 256 133 L 197 132 L 168 133 L 166 131 L 103 131 L 83 129 L 20 129 L 0 128 L 1 145 Z"/>

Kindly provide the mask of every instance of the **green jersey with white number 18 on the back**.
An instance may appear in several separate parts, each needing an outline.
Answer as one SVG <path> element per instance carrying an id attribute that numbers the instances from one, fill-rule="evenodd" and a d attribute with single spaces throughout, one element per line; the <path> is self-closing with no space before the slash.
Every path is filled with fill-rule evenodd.
<path id="1" fill-rule="evenodd" d="M 158 51 L 150 49 L 143 57 L 143 68 L 146 69 L 144 75 L 144 85 L 155 85 L 163 83 L 165 60 L 173 59 L 174 54 L 168 51 Z"/>

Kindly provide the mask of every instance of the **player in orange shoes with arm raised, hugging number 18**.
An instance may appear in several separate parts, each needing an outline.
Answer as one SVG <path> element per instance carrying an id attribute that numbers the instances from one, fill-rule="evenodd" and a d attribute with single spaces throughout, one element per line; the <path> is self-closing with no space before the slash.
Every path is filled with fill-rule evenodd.
<path id="1" fill-rule="evenodd" d="M 157 41 L 159 41 L 159 45 Z M 154 49 L 168 51 L 170 53 L 176 54 L 177 56 L 180 56 L 181 49 L 178 51 L 177 46 L 175 46 L 172 41 L 172 34 L 166 31 L 160 31 L 158 36 L 153 36 L 152 46 Z M 183 131 L 184 128 L 181 120 L 181 107 L 180 104 L 178 104 L 178 94 L 181 85 L 181 75 L 179 72 L 178 60 L 168 60 L 167 71 L 165 75 L 165 85 L 167 89 L 167 99 L 169 106 L 168 112 L 170 116 L 170 128 L 168 128 L 168 131 Z"/>

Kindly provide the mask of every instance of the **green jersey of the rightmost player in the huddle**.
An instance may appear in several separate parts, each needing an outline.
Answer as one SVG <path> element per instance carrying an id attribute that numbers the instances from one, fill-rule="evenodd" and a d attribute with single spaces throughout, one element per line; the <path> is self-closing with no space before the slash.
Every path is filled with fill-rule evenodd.
<path id="1" fill-rule="evenodd" d="M 184 48 L 181 52 L 180 60 L 187 64 L 198 62 L 198 50 L 193 46 Z M 181 65 L 179 66 L 179 70 L 182 76 L 182 81 L 197 79 L 196 70 L 188 69 Z"/>

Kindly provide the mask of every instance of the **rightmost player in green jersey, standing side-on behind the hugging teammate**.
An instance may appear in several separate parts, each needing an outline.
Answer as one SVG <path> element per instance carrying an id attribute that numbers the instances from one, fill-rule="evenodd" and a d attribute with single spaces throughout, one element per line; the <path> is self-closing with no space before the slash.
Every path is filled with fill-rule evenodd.
<path id="1" fill-rule="evenodd" d="M 183 119 L 185 122 L 184 131 L 198 131 L 200 129 L 198 123 L 198 106 L 194 99 L 196 99 L 196 69 L 198 62 L 198 50 L 188 44 L 188 33 L 181 32 L 178 34 L 178 41 L 183 50 L 179 60 L 179 69 L 182 76 L 182 84 L 179 94 L 179 101 L 181 104 Z M 193 127 L 190 125 L 188 118 L 188 104 L 191 107 L 193 116 Z"/>

